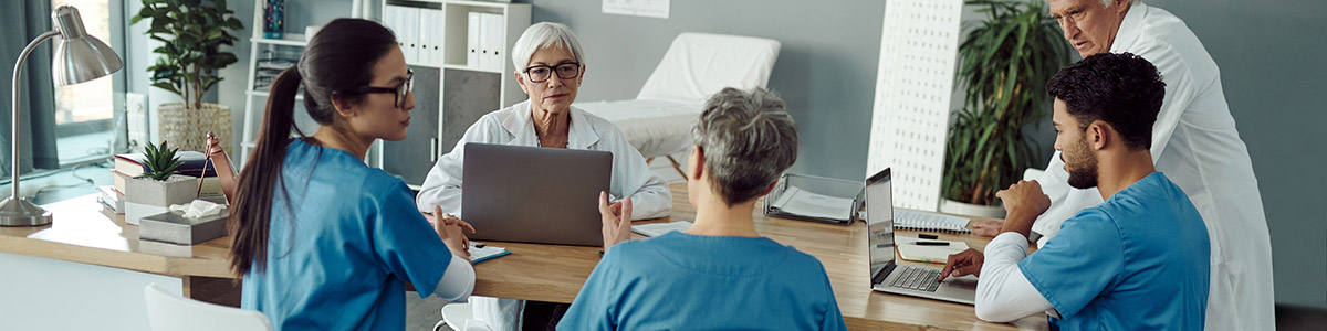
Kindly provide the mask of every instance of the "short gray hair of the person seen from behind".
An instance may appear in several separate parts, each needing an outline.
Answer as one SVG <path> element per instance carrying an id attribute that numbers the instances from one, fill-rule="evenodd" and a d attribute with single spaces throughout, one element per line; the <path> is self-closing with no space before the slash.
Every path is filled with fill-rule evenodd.
<path id="1" fill-rule="evenodd" d="M 726 87 L 710 97 L 691 135 L 730 207 L 759 197 L 798 159 L 796 122 L 779 95 L 759 87 Z"/>

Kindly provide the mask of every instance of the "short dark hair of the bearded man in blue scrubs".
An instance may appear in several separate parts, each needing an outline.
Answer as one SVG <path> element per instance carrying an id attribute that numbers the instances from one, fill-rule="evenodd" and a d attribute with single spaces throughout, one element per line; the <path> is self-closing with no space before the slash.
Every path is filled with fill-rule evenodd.
<path id="1" fill-rule="evenodd" d="M 1120 132 L 1131 151 L 1152 147 L 1165 82 L 1148 60 L 1133 53 L 1089 56 L 1060 69 L 1046 86 L 1047 94 L 1064 101 L 1080 128 L 1100 119 Z"/>

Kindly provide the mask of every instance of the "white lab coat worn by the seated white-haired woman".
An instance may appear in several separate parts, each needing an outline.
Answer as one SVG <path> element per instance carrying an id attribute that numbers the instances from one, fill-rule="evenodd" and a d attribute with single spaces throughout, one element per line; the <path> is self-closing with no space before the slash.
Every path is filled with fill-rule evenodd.
<path id="1" fill-rule="evenodd" d="M 613 154 L 613 173 L 608 193 L 614 197 L 632 197 L 633 220 L 667 216 L 673 209 L 673 192 L 664 179 L 650 171 L 645 158 L 626 142 L 622 132 L 612 122 L 575 106 L 569 111 L 572 123 L 567 132 L 567 148 Z M 539 146 L 535 123 L 531 120 L 529 101 L 488 113 L 470 126 L 460 142 L 456 142 L 456 147 L 438 158 L 438 163 L 429 171 L 429 177 L 423 180 L 423 188 L 415 197 L 419 211 L 433 212 L 433 205 L 437 204 L 442 207 L 442 212 L 460 214 L 464 218 L 460 211 L 460 173 L 466 143 Z M 531 164 L 531 167 L 539 166 Z"/>

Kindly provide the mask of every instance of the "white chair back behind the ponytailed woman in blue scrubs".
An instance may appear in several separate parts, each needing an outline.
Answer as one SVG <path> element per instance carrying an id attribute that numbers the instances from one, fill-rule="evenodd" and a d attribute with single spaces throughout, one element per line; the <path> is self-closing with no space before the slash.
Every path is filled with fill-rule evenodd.
<path id="1" fill-rule="evenodd" d="M 167 293 L 157 283 L 143 287 L 147 324 L 153 331 L 271 331 L 263 312 L 194 301 Z"/>

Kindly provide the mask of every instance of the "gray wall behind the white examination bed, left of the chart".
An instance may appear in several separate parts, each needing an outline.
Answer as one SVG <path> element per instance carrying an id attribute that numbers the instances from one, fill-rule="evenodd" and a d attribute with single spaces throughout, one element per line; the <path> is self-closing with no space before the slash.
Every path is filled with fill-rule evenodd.
<path id="1" fill-rule="evenodd" d="M 533 21 L 569 25 L 585 48 L 577 101 L 630 99 L 682 32 L 768 37 L 783 44 L 770 77 L 798 120 L 791 171 L 863 177 L 885 3 L 878 0 L 673 1 L 667 20 L 605 15 L 601 1 L 533 1 Z"/>

